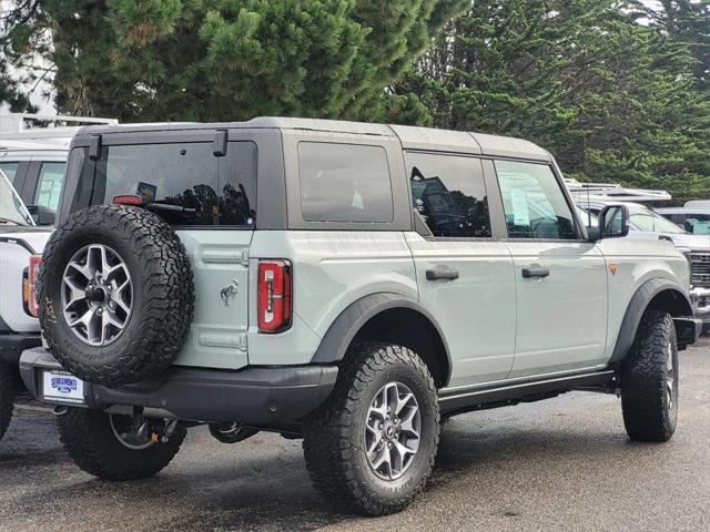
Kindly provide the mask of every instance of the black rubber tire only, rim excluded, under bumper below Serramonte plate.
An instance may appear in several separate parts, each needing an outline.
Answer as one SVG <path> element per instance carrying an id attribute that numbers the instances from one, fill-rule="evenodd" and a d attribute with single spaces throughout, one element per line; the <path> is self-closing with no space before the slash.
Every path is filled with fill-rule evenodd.
<path id="1" fill-rule="evenodd" d="M 166 443 L 132 450 L 118 440 L 109 415 L 101 410 L 70 408 L 59 417 L 58 424 L 69 457 L 80 469 L 103 480 L 153 477 L 170 463 L 186 434 L 184 428 L 178 428 Z"/>

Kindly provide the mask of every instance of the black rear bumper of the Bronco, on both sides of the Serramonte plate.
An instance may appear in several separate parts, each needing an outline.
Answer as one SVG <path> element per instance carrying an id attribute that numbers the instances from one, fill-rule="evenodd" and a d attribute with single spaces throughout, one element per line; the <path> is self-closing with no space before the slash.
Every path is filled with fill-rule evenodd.
<path id="1" fill-rule="evenodd" d="M 41 398 L 43 369 L 61 369 L 43 348 L 22 354 L 20 374 Z M 150 380 L 121 388 L 87 383 L 89 408 L 121 411 L 143 407 L 146 415 L 184 420 L 236 421 L 258 427 L 297 422 L 331 393 L 336 366 L 247 367 L 239 371 L 173 367 Z"/>

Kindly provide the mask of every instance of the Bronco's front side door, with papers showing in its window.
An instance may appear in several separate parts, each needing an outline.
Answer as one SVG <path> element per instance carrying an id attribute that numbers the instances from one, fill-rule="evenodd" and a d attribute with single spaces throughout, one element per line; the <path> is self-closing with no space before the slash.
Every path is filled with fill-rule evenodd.
<path id="1" fill-rule="evenodd" d="M 607 268 L 581 237 L 548 164 L 495 161 L 515 266 L 517 332 L 510 378 L 604 364 Z"/>

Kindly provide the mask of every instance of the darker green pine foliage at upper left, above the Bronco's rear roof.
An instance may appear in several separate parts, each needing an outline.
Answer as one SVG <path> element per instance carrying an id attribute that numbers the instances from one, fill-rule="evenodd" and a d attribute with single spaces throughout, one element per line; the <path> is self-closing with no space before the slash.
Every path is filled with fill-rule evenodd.
<path id="1" fill-rule="evenodd" d="M 386 88 L 466 0 L 18 2 L 4 49 L 47 31 L 60 111 L 123 121 L 376 120 Z"/>

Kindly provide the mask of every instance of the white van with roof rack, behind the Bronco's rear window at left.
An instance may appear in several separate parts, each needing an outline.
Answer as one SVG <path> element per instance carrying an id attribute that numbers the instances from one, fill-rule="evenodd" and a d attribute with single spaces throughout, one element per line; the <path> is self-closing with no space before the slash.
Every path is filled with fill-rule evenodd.
<path id="1" fill-rule="evenodd" d="M 0 171 L 42 225 L 53 223 L 69 144 L 79 131 L 79 124 L 108 125 L 118 124 L 118 121 L 31 113 L 0 115 Z"/>

